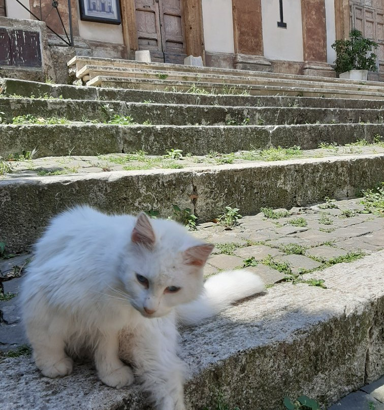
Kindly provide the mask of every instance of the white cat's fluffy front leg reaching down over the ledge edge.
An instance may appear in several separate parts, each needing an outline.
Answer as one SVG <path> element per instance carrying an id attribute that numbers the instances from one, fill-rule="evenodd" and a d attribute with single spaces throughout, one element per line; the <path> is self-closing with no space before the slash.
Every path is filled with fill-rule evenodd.
<path id="1" fill-rule="evenodd" d="M 176 355 L 173 318 L 145 319 L 131 339 L 131 360 L 156 410 L 185 410 L 185 364 Z"/>

